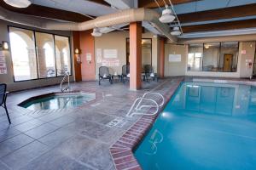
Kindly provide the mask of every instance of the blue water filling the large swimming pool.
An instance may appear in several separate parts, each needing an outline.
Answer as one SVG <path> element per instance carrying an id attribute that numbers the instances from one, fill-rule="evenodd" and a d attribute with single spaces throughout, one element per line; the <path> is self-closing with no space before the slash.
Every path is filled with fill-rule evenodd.
<path id="1" fill-rule="evenodd" d="M 255 170 L 256 88 L 184 82 L 135 156 L 146 170 Z"/>

